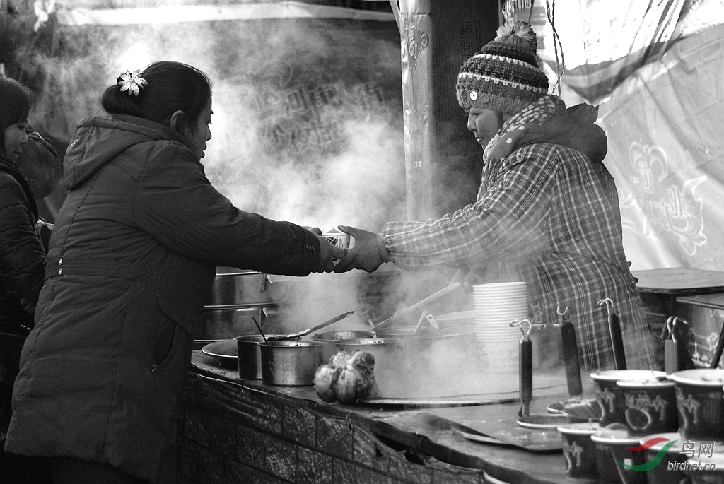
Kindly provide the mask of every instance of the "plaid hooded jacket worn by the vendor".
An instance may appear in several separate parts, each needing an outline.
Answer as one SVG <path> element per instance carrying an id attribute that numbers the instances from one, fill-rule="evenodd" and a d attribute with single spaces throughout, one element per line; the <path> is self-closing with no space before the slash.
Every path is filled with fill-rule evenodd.
<path id="1" fill-rule="evenodd" d="M 400 268 L 468 266 L 488 281 L 526 281 L 545 323 L 568 307 L 588 370 L 613 368 L 607 308 L 598 305 L 608 297 L 621 320 L 628 368 L 652 369 L 596 116 L 593 106 L 566 110 L 555 96 L 539 99 L 487 146 L 476 203 L 437 220 L 391 222 L 382 239 Z"/>

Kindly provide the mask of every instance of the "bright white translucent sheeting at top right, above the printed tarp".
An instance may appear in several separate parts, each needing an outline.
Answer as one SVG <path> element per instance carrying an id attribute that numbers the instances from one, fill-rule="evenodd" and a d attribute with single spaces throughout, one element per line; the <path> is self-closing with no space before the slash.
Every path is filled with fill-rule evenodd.
<path id="1" fill-rule="evenodd" d="M 508 0 L 530 21 L 539 56 L 561 82 L 597 103 L 675 41 L 724 22 L 723 0 Z"/>

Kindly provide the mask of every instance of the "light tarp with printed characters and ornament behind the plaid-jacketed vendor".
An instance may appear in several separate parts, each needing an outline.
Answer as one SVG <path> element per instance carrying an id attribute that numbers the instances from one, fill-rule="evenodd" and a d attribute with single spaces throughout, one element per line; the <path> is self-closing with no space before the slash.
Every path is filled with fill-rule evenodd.
<path id="1" fill-rule="evenodd" d="M 724 25 L 689 35 L 599 107 L 633 268 L 724 267 Z"/>

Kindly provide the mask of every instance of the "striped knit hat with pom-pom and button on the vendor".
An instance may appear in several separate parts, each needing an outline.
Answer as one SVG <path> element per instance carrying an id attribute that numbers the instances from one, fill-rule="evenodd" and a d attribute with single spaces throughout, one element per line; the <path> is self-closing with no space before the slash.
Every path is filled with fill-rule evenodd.
<path id="1" fill-rule="evenodd" d="M 460 67 L 460 106 L 515 114 L 546 95 L 548 77 L 538 67 L 537 48 L 536 33 L 526 22 L 502 25 L 495 40 Z"/>

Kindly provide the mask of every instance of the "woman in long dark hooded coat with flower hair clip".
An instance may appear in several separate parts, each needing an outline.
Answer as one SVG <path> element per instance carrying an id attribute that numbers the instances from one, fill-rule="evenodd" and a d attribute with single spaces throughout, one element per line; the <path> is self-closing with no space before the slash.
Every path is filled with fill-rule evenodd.
<path id="1" fill-rule="evenodd" d="M 236 208 L 204 175 L 211 82 L 155 62 L 76 126 L 6 450 L 56 484 L 174 483 L 177 409 L 216 266 L 306 276 L 345 250 Z"/>

